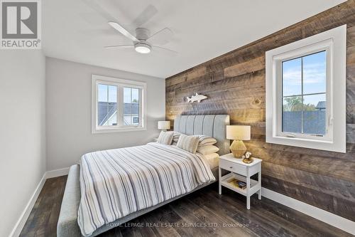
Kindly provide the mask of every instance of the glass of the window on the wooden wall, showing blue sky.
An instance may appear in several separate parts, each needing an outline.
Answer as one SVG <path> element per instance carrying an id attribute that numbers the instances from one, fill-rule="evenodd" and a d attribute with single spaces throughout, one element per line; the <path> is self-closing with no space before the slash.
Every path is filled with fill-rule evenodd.
<path id="1" fill-rule="evenodd" d="M 283 132 L 323 136 L 327 120 L 327 53 L 282 62 Z"/>

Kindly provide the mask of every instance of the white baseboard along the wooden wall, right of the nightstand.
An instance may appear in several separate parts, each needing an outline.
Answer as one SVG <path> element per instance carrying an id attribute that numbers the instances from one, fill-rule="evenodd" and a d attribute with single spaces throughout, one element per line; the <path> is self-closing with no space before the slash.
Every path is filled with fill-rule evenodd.
<path id="1" fill-rule="evenodd" d="M 290 196 L 279 194 L 270 189 L 262 188 L 261 194 L 262 196 L 276 201 L 279 204 L 288 206 L 291 209 L 295 209 L 296 211 L 300 211 L 303 214 L 306 214 L 307 216 L 312 216 L 313 218 L 323 221 L 331 226 L 337 227 L 343 231 L 355 235 L 354 221 L 350 221 L 342 216 L 337 216 L 336 214 L 332 214 L 329 211 L 324 211 L 323 209 L 317 208 L 316 206 L 312 206 L 310 204 L 306 204 L 305 202 L 298 201 L 297 199 L 293 199 Z"/>

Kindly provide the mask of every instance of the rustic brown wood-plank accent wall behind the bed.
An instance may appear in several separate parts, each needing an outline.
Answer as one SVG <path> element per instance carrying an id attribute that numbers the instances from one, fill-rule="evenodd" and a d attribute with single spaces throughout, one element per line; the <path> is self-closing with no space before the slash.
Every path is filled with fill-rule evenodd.
<path id="1" fill-rule="evenodd" d="M 265 52 L 347 24 L 346 154 L 265 142 Z M 208 96 L 187 103 L 193 93 Z M 263 186 L 355 221 L 355 0 L 166 79 L 166 118 L 229 114 L 251 125 L 246 146 L 263 159 Z"/>

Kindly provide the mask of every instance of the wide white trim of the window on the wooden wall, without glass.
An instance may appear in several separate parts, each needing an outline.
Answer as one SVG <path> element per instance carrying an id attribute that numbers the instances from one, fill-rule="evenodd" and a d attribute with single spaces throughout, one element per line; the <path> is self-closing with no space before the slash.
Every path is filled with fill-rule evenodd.
<path id="1" fill-rule="evenodd" d="M 317 51 L 327 51 L 327 136 L 282 132 L 280 63 Z M 280 112 L 281 111 L 281 112 Z M 346 25 L 266 52 L 266 142 L 294 147 L 346 152 Z"/>

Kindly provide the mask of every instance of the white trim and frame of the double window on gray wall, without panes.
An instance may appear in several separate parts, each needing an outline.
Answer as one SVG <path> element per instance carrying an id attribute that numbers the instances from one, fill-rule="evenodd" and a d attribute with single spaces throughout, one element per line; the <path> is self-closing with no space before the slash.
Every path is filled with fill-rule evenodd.
<path id="1" fill-rule="evenodd" d="M 117 126 L 98 126 L 97 125 L 97 84 L 104 83 L 106 85 L 116 85 L 118 86 L 117 92 L 117 113 L 118 120 Z M 139 112 L 142 113 L 139 121 L 139 125 L 126 125 L 123 126 L 123 103 L 124 101 L 124 86 L 130 88 L 141 89 L 142 95 L 139 97 Z M 111 78 L 104 75 L 94 75 L 92 74 L 92 133 L 104 133 L 104 132 L 133 132 L 147 130 L 146 128 L 146 91 L 147 85 L 143 82 L 138 82 L 134 80 L 124 80 L 119 78 Z"/>

